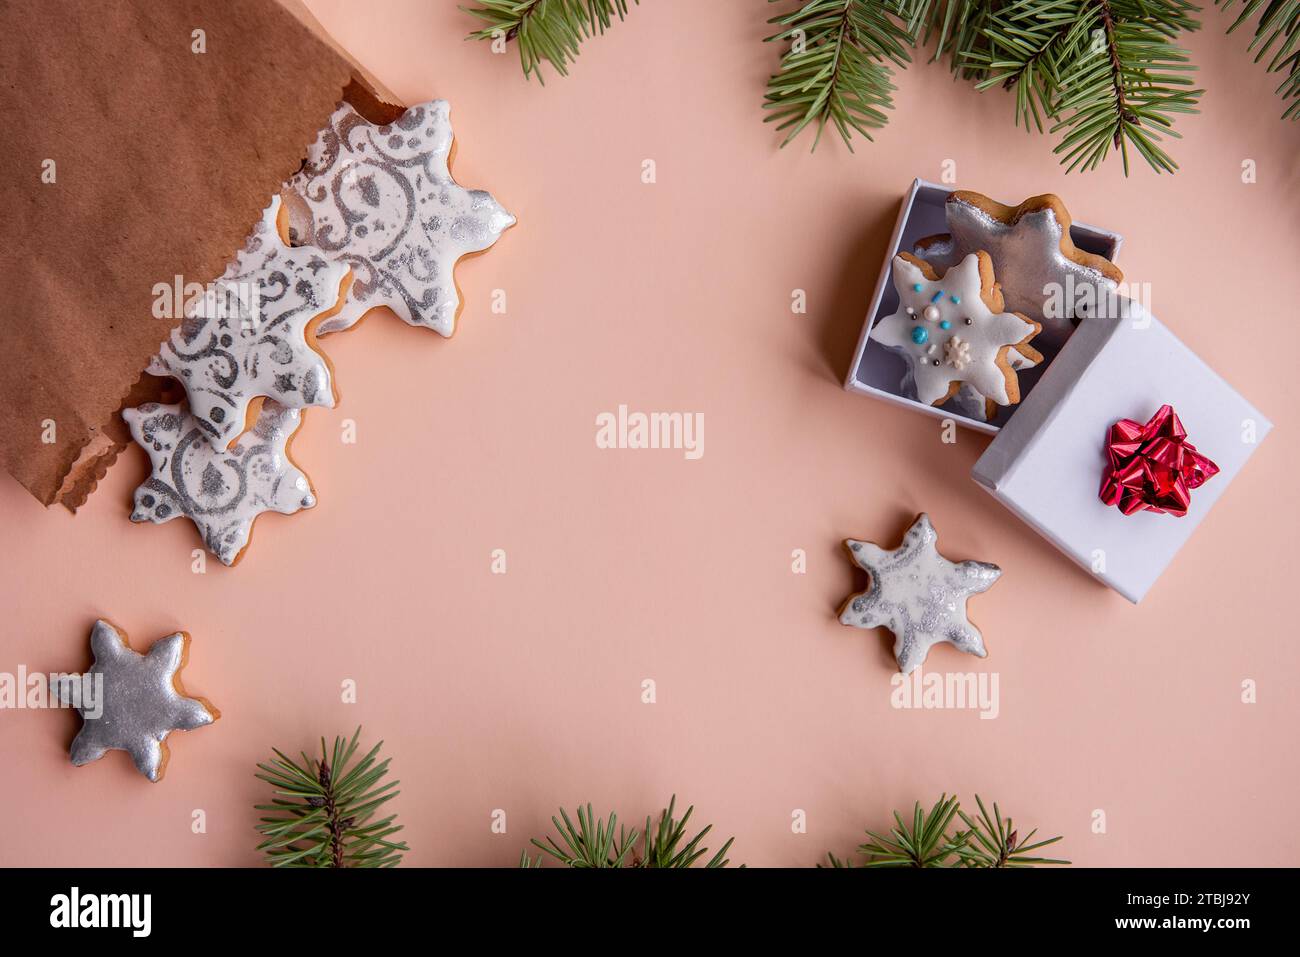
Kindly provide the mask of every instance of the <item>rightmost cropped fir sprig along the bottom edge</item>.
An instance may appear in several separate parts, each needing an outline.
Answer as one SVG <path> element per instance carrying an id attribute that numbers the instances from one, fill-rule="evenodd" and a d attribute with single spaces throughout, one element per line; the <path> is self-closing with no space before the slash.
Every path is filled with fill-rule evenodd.
<path id="1" fill-rule="evenodd" d="M 1036 865 L 1070 863 L 1044 857 L 1030 857 L 1037 850 L 1061 840 L 1032 843 L 1037 831 L 1031 831 L 1019 839 L 1010 818 L 1002 818 L 998 806 L 993 805 L 991 818 L 979 794 L 979 817 L 971 819 L 961 810 L 958 798 L 941 794 L 928 811 L 920 802 L 913 806 L 910 820 L 894 811 L 894 827 L 888 836 L 867 831 L 870 841 L 858 848 L 866 859 L 854 865 L 846 858 L 827 854 L 829 867 L 1034 867 Z M 959 818 L 966 830 L 958 828 L 948 833 L 953 819 Z M 818 865 L 819 867 L 823 865 Z"/>

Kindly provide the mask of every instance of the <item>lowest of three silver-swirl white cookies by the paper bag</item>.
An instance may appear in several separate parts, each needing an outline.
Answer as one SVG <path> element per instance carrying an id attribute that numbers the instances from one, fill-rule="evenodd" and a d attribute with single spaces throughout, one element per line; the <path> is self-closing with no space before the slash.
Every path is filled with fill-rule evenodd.
<path id="1" fill-rule="evenodd" d="M 153 473 L 135 489 L 131 521 L 161 524 L 185 516 L 224 564 L 234 564 L 268 511 L 291 515 L 316 505 L 311 482 L 289 459 L 302 424 L 296 408 L 266 400 L 256 424 L 230 447 L 213 446 L 185 406 L 156 402 L 122 410 Z"/>

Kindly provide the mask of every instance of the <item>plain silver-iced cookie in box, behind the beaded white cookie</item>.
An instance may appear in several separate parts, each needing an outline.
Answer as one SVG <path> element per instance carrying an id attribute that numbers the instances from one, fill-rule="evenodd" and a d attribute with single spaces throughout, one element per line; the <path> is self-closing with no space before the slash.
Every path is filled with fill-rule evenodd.
<path id="1" fill-rule="evenodd" d="M 1039 322 L 1040 342 L 1053 350 L 1074 332 L 1076 306 L 1112 294 L 1124 278 L 1110 260 L 1075 247 L 1070 213 L 1052 194 L 1010 207 L 958 190 L 949 194 L 944 213 L 948 234 L 922 239 L 913 251 L 940 270 L 987 251 L 1006 308 Z"/>

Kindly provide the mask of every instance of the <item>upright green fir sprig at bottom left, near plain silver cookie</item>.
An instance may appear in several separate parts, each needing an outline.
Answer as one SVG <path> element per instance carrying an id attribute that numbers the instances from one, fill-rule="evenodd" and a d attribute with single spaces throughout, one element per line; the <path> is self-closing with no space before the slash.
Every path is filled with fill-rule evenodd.
<path id="1" fill-rule="evenodd" d="M 274 788 L 278 797 L 256 810 L 272 811 L 261 818 L 257 831 L 265 840 L 257 845 L 273 867 L 394 867 L 402 862 L 406 843 L 389 840 L 402 830 L 387 815 L 372 820 L 376 810 L 399 792 L 399 781 L 380 784 L 389 771 L 389 758 L 376 763 L 380 741 L 355 765 L 358 728 L 352 740 L 335 737 L 330 750 L 321 739 L 318 759 L 302 755 L 296 762 L 276 752 L 276 759 L 259 763 L 255 775 Z"/>

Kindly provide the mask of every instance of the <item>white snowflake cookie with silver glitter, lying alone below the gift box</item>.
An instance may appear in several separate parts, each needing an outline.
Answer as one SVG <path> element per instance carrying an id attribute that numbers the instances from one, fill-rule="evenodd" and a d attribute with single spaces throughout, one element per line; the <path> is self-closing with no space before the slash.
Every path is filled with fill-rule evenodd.
<path id="1" fill-rule="evenodd" d="M 845 541 L 871 584 L 849 598 L 840 623 L 893 632 L 894 658 L 905 675 L 940 641 L 979 658 L 988 654 L 979 628 L 966 616 L 966 599 L 987 592 L 1002 570 L 987 562 L 949 562 L 939 554 L 937 540 L 930 516 L 922 512 L 897 549 Z"/>

